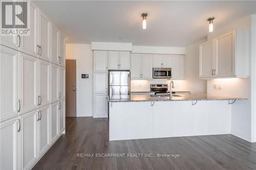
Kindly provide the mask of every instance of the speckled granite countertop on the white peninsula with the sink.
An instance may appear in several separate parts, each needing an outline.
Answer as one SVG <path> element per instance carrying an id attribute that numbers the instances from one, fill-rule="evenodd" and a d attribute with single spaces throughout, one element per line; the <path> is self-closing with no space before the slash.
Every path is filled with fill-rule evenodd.
<path id="1" fill-rule="evenodd" d="M 217 101 L 217 100 L 247 100 L 235 96 L 212 95 L 212 94 L 173 94 L 172 100 L 167 94 L 131 94 L 130 99 L 109 100 L 109 102 L 147 102 L 147 101 Z"/>

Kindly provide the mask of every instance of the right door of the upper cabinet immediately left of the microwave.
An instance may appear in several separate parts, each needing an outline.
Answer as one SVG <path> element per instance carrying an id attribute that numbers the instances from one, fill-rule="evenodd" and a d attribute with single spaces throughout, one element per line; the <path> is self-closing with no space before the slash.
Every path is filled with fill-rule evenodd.
<path id="1" fill-rule="evenodd" d="M 153 55 L 141 55 L 141 76 L 143 79 L 152 79 L 153 75 Z"/>

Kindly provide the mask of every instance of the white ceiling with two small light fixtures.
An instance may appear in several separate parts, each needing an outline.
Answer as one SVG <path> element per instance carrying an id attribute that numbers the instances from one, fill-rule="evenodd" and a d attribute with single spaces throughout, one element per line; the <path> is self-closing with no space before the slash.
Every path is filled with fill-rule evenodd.
<path id="1" fill-rule="evenodd" d="M 186 46 L 214 29 L 256 13 L 256 1 L 36 1 L 66 35 L 67 43 L 132 42 Z M 147 12 L 147 29 L 141 13 Z"/>

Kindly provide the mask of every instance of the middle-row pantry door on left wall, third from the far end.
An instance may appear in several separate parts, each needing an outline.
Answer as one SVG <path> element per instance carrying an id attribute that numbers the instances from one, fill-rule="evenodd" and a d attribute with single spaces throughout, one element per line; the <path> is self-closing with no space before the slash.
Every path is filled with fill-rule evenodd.
<path id="1" fill-rule="evenodd" d="M 50 63 L 38 59 L 38 96 L 39 105 L 50 104 Z"/>

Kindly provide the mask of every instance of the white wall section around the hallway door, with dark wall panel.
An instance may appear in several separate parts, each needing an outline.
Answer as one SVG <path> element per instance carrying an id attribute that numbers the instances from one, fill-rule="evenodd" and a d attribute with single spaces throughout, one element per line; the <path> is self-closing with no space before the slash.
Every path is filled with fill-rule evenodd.
<path id="1" fill-rule="evenodd" d="M 91 44 L 66 44 L 66 59 L 77 59 L 76 115 L 77 117 L 92 116 L 93 54 Z M 81 79 L 81 74 L 89 74 L 89 79 Z"/>

